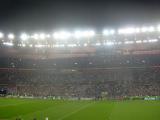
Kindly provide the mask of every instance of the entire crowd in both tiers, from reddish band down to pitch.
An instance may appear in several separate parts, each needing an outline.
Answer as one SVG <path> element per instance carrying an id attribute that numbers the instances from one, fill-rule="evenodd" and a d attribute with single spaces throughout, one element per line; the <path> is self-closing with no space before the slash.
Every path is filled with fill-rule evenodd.
<path id="1" fill-rule="evenodd" d="M 0 59 L 0 87 L 20 96 L 102 98 L 160 95 L 160 57 Z M 7 69 L 6 69 L 7 68 Z"/>

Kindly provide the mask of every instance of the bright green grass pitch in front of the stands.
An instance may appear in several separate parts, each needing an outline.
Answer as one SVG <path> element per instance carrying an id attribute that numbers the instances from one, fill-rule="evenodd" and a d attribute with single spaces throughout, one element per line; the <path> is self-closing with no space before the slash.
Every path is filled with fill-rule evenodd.
<path id="1" fill-rule="evenodd" d="M 0 98 L 0 120 L 160 120 L 160 101 L 60 101 Z"/>

